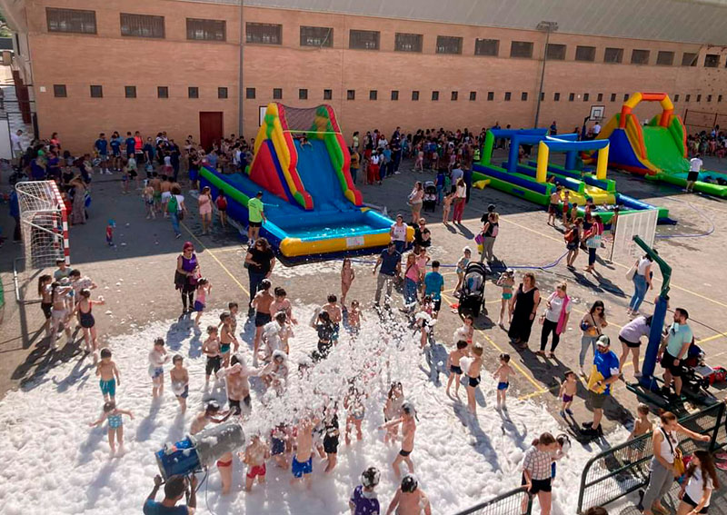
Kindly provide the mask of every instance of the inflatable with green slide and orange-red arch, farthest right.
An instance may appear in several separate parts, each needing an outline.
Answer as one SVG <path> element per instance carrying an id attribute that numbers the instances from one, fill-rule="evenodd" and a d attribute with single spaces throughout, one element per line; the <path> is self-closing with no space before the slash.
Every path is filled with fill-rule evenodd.
<path id="1" fill-rule="evenodd" d="M 662 114 L 654 116 L 642 126 L 632 114 L 632 110 L 641 102 L 659 102 Z M 614 114 L 597 137 L 597 140 L 607 139 L 611 142 L 609 165 L 644 175 L 647 180 L 684 187 L 689 172 L 687 133 L 682 119 L 673 111 L 674 105 L 668 94 L 632 94 L 623 103 L 621 113 Z M 727 197 L 727 186 L 718 184 L 725 180 L 727 176 L 723 173 L 703 171 L 699 174 L 694 190 Z"/>

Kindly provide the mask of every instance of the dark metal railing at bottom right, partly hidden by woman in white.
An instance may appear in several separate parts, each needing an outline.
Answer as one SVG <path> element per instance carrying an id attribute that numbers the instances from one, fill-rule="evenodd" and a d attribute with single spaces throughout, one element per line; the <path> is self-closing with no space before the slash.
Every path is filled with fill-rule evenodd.
<path id="1" fill-rule="evenodd" d="M 709 434 L 710 451 L 727 446 L 724 427 L 725 405 L 720 402 L 679 421 L 683 427 L 701 434 Z M 678 433 L 678 447 L 684 455 L 698 449 L 690 438 Z M 583 469 L 578 496 L 578 513 L 592 506 L 603 506 L 639 490 L 649 482 L 649 465 L 652 461 L 652 433 L 625 441 L 608 451 L 594 456 Z"/>

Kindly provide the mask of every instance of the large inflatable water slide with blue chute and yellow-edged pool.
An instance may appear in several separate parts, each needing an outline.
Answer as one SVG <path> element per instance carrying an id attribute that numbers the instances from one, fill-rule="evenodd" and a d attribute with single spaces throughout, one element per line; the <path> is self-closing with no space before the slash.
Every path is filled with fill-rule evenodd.
<path id="1" fill-rule="evenodd" d="M 215 199 L 224 190 L 227 213 L 240 223 L 247 223 L 248 199 L 263 191 L 262 234 L 286 257 L 381 248 L 393 221 L 364 207 L 349 163 L 333 107 L 273 103 L 244 173 L 204 168 L 200 180 Z M 407 239 L 413 240 L 411 228 Z"/>

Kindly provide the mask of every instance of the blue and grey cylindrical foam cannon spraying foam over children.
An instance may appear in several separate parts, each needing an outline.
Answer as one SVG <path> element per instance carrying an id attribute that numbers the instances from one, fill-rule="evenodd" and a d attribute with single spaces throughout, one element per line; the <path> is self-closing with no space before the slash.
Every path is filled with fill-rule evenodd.
<path id="1" fill-rule="evenodd" d="M 164 480 L 188 475 L 214 464 L 226 452 L 242 449 L 244 431 L 236 421 L 218 424 L 174 444 L 165 444 L 155 452 L 156 463 Z"/>

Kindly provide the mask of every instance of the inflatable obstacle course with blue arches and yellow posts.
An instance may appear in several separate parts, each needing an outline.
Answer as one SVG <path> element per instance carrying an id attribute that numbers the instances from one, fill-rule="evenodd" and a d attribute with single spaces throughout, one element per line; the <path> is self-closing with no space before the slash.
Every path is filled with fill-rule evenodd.
<path id="1" fill-rule="evenodd" d="M 501 166 L 493 163 L 493 147 L 497 139 L 510 140 L 508 159 Z M 566 190 L 570 203 L 577 203 L 579 207 L 590 199 L 596 204 L 603 223 L 610 223 L 616 206 L 620 206 L 619 213 L 658 209 L 660 222 L 671 222 L 668 210 L 616 192 L 616 183 L 606 178 L 611 146 L 608 141 L 579 142 L 576 139 L 576 134 L 548 136 L 547 129 L 490 130 L 485 135 L 481 161 L 473 165 L 473 181 L 489 180 L 495 189 L 541 205 L 550 203 L 550 195 L 560 184 L 563 186 L 561 204 Z M 520 163 L 518 154 L 521 145 L 538 145 L 537 161 Z M 595 173 L 576 170 L 578 154 L 586 151 L 597 152 Z M 565 153 L 564 166 L 550 163 L 550 156 L 555 152 Z"/>

